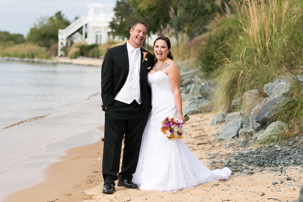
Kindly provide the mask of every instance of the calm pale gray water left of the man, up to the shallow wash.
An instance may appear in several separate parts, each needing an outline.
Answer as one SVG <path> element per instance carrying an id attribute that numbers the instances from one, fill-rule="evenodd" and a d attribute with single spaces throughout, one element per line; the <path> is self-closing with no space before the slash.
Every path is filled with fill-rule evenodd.
<path id="1" fill-rule="evenodd" d="M 103 125 L 100 75 L 101 67 L 0 62 L 0 174 Z"/>

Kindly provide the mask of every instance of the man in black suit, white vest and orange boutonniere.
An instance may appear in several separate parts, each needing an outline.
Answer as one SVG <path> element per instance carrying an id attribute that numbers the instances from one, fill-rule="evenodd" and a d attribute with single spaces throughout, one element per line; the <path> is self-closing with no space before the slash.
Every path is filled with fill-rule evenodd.
<path id="1" fill-rule="evenodd" d="M 105 194 L 115 191 L 114 181 L 117 179 L 118 186 L 138 188 L 131 180 L 136 171 L 147 116 L 152 108 L 147 73 L 155 61 L 153 54 L 141 47 L 147 28 L 148 24 L 144 22 L 132 24 L 129 41 L 109 49 L 102 63 L 101 98 L 102 110 L 105 111 L 102 193 Z"/>

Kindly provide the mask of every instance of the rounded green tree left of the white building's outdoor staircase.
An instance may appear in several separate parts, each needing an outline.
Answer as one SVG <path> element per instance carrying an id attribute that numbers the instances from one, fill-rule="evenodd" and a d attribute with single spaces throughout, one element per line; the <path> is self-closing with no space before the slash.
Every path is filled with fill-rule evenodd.
<path id="1" fill-rule="evenodd" d="M 65 29 L 70 21 L 64 17 L 61 11 L 51 17 L 41 17 L 30 29 L 26 40 L 40 46 L 50 47 L 58 42 L 58 29 Z"/>

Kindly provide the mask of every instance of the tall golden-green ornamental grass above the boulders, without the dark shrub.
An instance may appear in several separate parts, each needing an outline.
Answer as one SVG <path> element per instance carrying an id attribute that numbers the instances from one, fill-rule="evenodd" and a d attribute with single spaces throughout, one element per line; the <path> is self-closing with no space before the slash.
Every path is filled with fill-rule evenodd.
<path id="1" fill-rule="evenodd" d="M 303 71 L 301 0 L 241 0 L 236 10 L 227 19 L 232 34 L 215 50 L 231 51 L 216 71 L 215 92 L 217 108 L 228 106 L 229 110 L 232 100 L 244 92 L 250 89 L 263 92 L 264 84 L 277 75 Z"/>

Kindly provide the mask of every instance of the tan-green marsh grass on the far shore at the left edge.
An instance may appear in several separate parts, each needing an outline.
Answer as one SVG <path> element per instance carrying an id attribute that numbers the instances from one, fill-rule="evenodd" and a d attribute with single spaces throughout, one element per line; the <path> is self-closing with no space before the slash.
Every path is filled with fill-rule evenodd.
<path id="1" fill-rule="evenodd" d="M 21 44 L 0 49 L 0 57 L 45 58 L 46 48 L 32 44 Z"/>

